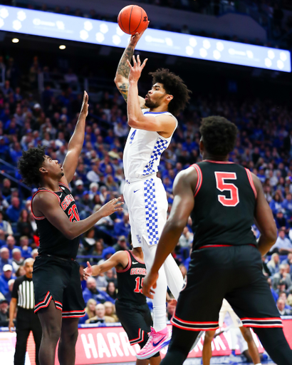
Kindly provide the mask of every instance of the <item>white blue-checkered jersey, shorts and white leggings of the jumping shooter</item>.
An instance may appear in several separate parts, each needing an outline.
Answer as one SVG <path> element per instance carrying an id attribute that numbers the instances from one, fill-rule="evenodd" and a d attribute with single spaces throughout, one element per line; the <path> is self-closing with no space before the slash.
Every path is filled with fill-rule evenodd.
<path id="1" fill-rule="evenodd" d="M 168 112 L 152 113 L 143 109 L 147 116 L 172 115 Z M 174 118 L 174 116 L 172 115 Z M 177 122 L 177 119 L 174 118 Z M 167 196 L 165 188 L 156 173 L 160 157 L 170 144 L 157 132 L 131 128 L 123 154 L 125 172 L 124 198 L 129 211 L 133 247 L 142 247 L 147 270 L 152 267 L 157 243 L 167 220 Z M 167 285 L 177 299 L 183 287 L 182 273 L 172 255 L 169 255 L 160 269 L 157 289 L 153 299 L 154 327 L 158 331 L 166 327 L 165 294 Z M 160 325 L 157 325 L 157 318 Z"/>

